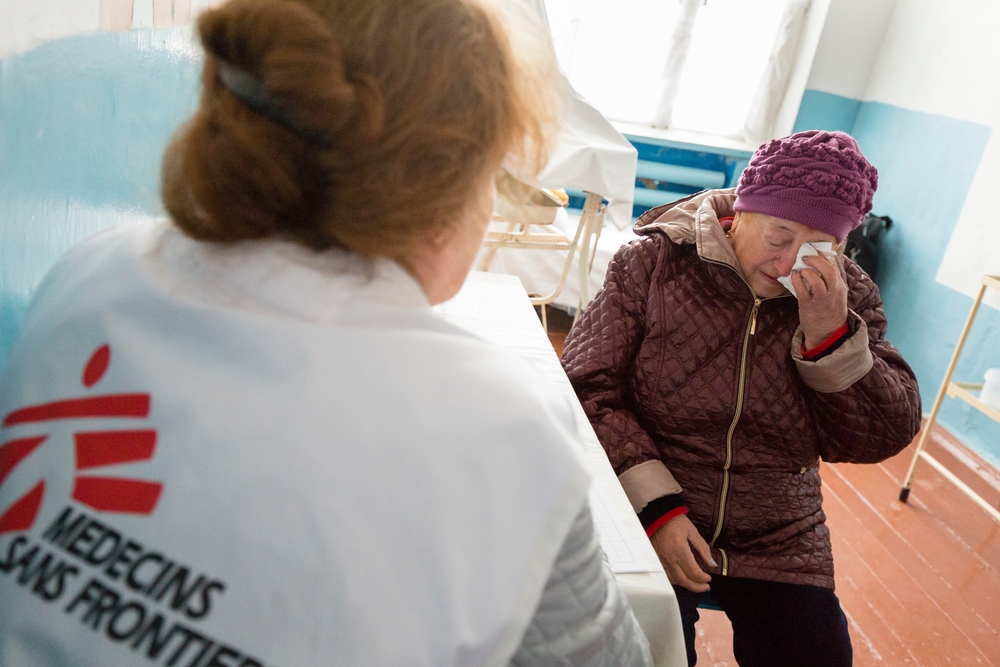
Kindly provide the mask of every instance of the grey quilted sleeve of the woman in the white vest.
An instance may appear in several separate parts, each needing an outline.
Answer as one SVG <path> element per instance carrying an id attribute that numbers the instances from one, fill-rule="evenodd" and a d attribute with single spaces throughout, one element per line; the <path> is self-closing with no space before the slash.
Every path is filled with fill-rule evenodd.
<path id="1" fill-rule="evenodd" d="M 585 504 L 552 567 L 517 667 L 651 667 L 649 642 L 598 544 Z"/>

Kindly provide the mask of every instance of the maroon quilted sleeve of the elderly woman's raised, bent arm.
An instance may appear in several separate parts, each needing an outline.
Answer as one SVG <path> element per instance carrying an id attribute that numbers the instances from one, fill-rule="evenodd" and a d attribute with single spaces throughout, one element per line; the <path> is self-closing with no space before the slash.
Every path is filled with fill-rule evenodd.
<path id="1" fill-rule="evenodd" d="M 878 287 L 853 262 L 847 262 L 845 268 L 850 286 L 848 306 L 851 318 L 858 320 L 856 329 L 840 349 L 815 364 L 857 368 L 851 359 L 859 353 L 870 361 L 860 373 L 841 373 L 844 381 L 833 387 L 834 391 L 821 391 L 809 380 L 811 362 L 796 354 L 796 345 L 801 347 L 799 334 L 792 342 L 792 356 L 808 386 L 805 391 L 823 460 L 877 463 L 899 453 L 917 434 L 920 392 L 913 371 L 885 339 L 885 311 Z"/>

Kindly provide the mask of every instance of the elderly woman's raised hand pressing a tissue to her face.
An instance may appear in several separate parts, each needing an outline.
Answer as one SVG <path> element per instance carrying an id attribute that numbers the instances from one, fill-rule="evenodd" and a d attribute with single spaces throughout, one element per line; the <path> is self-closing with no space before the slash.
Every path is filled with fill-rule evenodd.
<path id="1" fill-rule="evenodd" d="M 847 321 L 847 283 L 843 272 L 823 255 L 802 260 L 809 268 L 792 271 L 792 285 L 799 298 L 799 324 L 806 349 L 833 335 Z"/>

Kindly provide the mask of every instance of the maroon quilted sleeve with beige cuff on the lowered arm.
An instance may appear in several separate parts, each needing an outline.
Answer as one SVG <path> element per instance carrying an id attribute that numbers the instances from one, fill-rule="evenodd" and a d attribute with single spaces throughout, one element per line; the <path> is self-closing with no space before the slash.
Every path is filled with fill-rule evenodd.
<path id="1" fill-rule="evenodd" d="M 681 492 L 627 399 L 646 330 L 650 281 L 670 245 L 665 237 L 651 235 L 622 246 L 563 347 L 563 368 L 636 512 L 651 500 Z"/>

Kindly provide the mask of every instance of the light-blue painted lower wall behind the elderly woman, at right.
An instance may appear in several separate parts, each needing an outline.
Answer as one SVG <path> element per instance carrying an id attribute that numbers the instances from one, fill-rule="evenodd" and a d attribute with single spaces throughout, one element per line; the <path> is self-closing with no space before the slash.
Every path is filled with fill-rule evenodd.
<path id="1" fill-rule="evenodd" d="M 795 130 L 850 132 L 879 170 L 874 213 L 893 227 L 883 237 L 879 287 L 888 337 L 913 366 L 929 412 L 972 299 L 934 280 L 991 128 L 879 102 L 807 90 Z M 956 379 L 982 382 L 1000 366 L 1000 312 L 983 307 Z M 1000 466 L 1000 426 L 945 399 L 941 424 Z"/>

